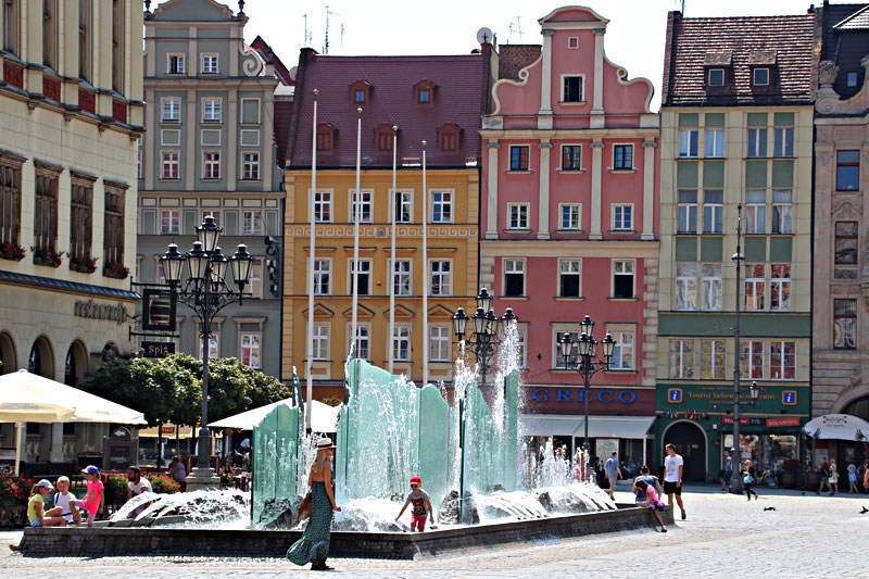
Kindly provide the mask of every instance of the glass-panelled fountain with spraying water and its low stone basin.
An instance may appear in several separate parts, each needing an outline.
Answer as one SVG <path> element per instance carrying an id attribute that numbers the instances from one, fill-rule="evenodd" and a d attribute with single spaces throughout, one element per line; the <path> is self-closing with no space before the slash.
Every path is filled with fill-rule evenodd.
<path id="1" fill-rule="evenodd" d="M 575 476 L 569 461 L 556 465 L 551 440 L 542 453 L 520 443 L 517 340 L 513 325 L 504 337 L 490 402 L 477 388 L 476 368 L 463 360 L 455 366 L 453 391 L 444 392 L 443 386 L 417 388 L 350 356 L 336 433 L 336 493 L 342 512 L 336 513 L 332 527 L 333 556 L 412 557 L 474 544 L 651 527 L 645 509 L 617 508 L 584 480 L 584 457 L 577 456 Z M 278 406 L 254 427 L 250 493 L 149 493 L 125 505 L 108 527 L 91 529 L 99 540 L 76 528 L 28 528 L 21 552 L 56 553 L 55 541 L 63 537 L 62 551 L 70 555 L 282 555 L 305 525 L 295 507 L 317 438 L 304 433 L 294 372 L 293 398 L 293 407 Z M 407 533 L 393 521 L 401 508 L 396 501 L 403 500 L 413 475 L 421 476 L 432 498 L 438 530 Z M 135 519 L 127 518 L 148 502 Z M 672 523 L 671 511 L 662 515 Z"/>

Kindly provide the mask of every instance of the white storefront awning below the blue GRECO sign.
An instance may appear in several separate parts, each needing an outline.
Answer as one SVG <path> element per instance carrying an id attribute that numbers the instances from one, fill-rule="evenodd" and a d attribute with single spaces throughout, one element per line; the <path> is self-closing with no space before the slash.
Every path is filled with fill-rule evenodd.
<path id="1" fill-rule="evenodd" d="M 590 416 L 590 438 L 645 438 L 655 421 L 654 416 Z M 572 436 L 585 435 L 582 416 L 557 414 L 524 414 L 519 428 L 525 436 Z"/>

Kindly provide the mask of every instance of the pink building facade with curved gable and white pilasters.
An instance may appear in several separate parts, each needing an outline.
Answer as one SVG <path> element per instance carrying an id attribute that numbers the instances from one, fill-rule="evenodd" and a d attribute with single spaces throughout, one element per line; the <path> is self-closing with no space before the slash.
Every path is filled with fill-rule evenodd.
<path id="1" fill-rule="evenodd" d="M 541 444 L 574 451 L 585 432 L 583 379 L 556 342 L 576 340 L 587 314 L 599 342 L 618 341 L 591 378 L 589 438 L 593 454 L 627 463 L 645 461 L 655 416 L 659 121 L 652 84 L 607 60 L 608 22 L 562 8 L 539 21 L 541 47 L 499 49 L 481 130 L 480 281 L 520 319 L 524 421 Z"/>

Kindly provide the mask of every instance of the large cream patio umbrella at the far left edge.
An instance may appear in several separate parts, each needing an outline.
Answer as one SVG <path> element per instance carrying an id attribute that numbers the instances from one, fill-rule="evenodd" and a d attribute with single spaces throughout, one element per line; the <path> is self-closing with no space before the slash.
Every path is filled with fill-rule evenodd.
<path id="1" fill-rule="evenodd" d="M 0 376 L 0 423 L 15 423 L 15 475 L 22 423 L 147 424 L 142 413 L 25 369 Z"/>

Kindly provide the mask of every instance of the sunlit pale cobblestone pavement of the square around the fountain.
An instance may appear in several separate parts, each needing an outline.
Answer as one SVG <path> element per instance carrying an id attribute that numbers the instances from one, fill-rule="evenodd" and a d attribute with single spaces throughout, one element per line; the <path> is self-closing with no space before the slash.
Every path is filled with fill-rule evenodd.
<path id="1" fill-rule="evenodd" d="M 694 486 L 683 494 L 687 520 L 665 533 L 647 530 L 468 550 L 416 561 L 330 558 L 329 575 L 363 578 L 575 578 L 663 576 L 869 577 L 860 554 L 869 537 L 869 496 L 802 494 L 757 489 L 746 501 L 717 486 Z M 616 499 L 629 502 L 627 483 Z M 316 577 L 280 558 L 218 557 L 51 557 L 12 553 L 21 531 L 0 532 L 0 574 L 16 579 L 50 576 L 148 577 Z M 729 571 L 725 570 L 729 569 Z"/>

